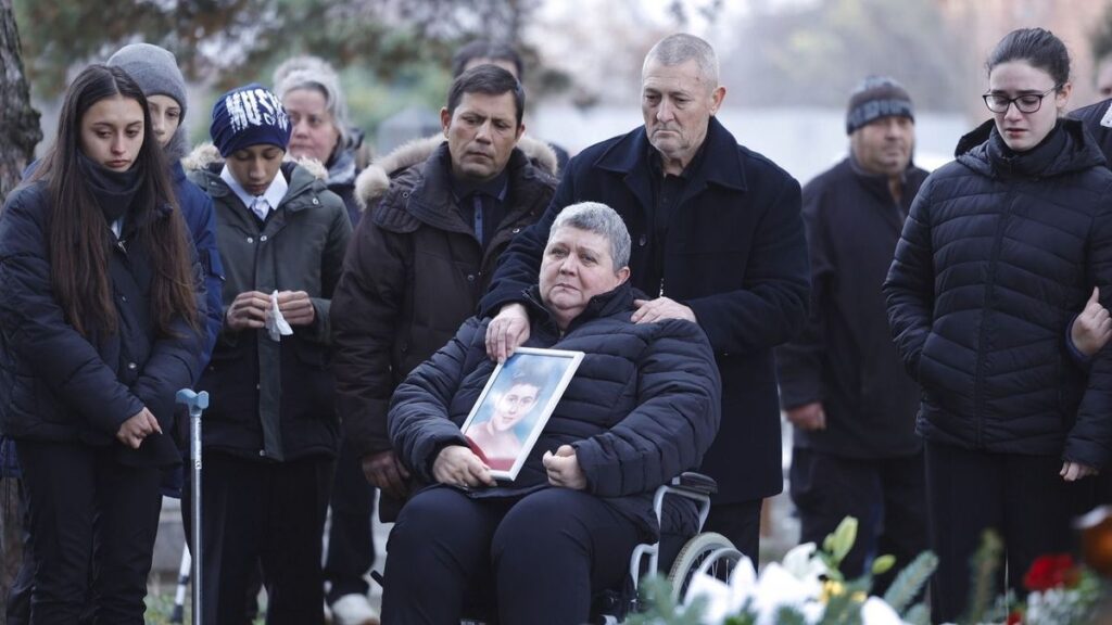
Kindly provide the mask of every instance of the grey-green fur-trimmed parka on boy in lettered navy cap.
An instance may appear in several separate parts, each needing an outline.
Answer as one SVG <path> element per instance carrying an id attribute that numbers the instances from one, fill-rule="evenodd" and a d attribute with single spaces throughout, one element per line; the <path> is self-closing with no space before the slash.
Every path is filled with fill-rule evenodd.
<path id="1" fill-rule="evenodd" d="M 225 324 L 198 384 L 212 397 L 206 448 L 278 462 L 335 455 L 329 307 L 351 237 L 344 202 L 326 187 L 322 168 L 285 162 L 289 189 L 260 221 L 220 178 L 224 161 L 212 146 L 195 150 L 186 167 L 216 208 L 225 311 L 244 291 L 304 290 L 315 312 L 312 325 L 281 341 L 266 329 L 237 333 Z"/>

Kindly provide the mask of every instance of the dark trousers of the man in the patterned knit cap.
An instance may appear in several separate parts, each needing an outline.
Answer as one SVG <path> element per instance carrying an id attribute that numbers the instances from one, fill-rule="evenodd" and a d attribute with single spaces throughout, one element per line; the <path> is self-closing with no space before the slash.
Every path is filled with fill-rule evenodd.
<path id="1" fill-rule="evenodd" d="M 896 571 L 926 549 L 923 454 L 864 459 L 796 447 L 791 493 L 800 512 L 801 543 L 822 545 L 843 518 L 857 519 L 857 540 L 840 567 L 848 578 L 865 572 L 870 556 L 896 557 L 892 572 L 876 581 L 878 594 Z"/>

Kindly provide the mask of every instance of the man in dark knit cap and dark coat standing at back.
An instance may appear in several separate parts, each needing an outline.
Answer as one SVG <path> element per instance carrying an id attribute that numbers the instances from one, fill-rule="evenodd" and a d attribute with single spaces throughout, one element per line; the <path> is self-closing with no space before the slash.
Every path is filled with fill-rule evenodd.
<path id="1" fill-rule="evenodd" d="M 846 133 L 850 156 L 803 188 L 811 318 L 776 363 L 795 426 L 788 483 L 800 542 L 822 544 L 856 517 L 858 540 L 842 563 L 852 578 L 870 552 L 906 564 L 926 548 L 920 393 L 892 344 L 881 292 L 926 171 L 911 162 L 911 98 L 890 78 L 854 90 Z"/>

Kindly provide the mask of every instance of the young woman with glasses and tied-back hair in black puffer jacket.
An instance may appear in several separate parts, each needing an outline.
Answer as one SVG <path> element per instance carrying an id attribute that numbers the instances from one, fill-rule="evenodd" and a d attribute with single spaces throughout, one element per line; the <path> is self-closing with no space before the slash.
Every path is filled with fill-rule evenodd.
<path id="1" fill-rule="evenodd" d="M 1061 117 L 1061 40 L 1015 30 L 986 65 L 993 118 L 923 183 L 884 285 L 923 390 L 935 622 L 965 608 L 985 529 L 1003 538 L 1017 592 L 1035 557 L 1066 550 L 1068 483 L 1112 453 L 1112 359 L 1098 351 L 1086 376 L 1069 331 L 1095 287 L 1105 307 L 1112 292 L 1112 172 Z"/>

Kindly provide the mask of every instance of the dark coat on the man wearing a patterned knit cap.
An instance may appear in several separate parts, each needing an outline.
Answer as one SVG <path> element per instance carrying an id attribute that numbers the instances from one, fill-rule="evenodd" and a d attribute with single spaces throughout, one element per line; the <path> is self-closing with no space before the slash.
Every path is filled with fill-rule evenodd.
<path id="1" fill-rule="evenodd" d="M 811 257 L 811 318 L 776 350 L 784 409 L 820 401 L 822 430 L 794 445 L 854 458 L 915 454 L 919 386 L 892 345 L 881 285 L 926 171 L 904 172 L 900 204 L 886 176 L 846 158 L 803 187 Z"/>

